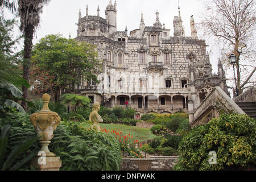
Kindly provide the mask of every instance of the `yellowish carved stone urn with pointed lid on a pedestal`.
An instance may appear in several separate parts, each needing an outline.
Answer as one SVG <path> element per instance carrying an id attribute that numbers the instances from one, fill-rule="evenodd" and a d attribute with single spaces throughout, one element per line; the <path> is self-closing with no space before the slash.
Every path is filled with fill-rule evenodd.
<path id="1" fill-rule="evenodd" d="M 53 131 L 60 123 L 59 114 L 49 110 L 48 104 L 50 100 L 49 94 L 43 94 L 43 109 L 37 113 L 31 114 L 30 122 L 38 132 L 39 143 L 41 144 L 41 151 L 46 152 L 46 156 L 55 156 L 49 151 L 48 145 L 53 138 Z M 40 156 L 40 155 L 38 155 Z"/>

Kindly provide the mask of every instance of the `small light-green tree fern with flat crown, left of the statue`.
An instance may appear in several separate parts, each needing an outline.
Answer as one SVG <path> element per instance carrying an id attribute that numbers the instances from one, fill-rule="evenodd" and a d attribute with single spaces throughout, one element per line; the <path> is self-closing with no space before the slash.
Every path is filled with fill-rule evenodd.
<path id="1" fill-rule="evenodd" d="M 76 115 L 76 109 L 79 106 L 89 106 L 90 105 L 90 98 L 86 96 L 79 96 L 77 94 L 63 94 L 61 97 L 64 97 L 63 104 L 67 104 L 70 102 L 72 105 L 75 105 L 74 114 Z"/>

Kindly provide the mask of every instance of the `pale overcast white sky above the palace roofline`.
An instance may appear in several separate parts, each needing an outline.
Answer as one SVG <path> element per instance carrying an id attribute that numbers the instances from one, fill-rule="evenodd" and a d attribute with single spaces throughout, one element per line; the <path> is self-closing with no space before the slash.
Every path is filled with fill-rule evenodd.
<path id="1" fill-rule="evenodd" d="M 191 36 L 190 17 L 193 15 L 195 23 L 200 22 L 201 14 L 204 12 L 204 1 L 209 0 L 179 0 L 180 14 L 185 27 L 185 36 Z M 112 4 L 114 5 L 114 0 Z M 124 31 L 127 26 L 128 34 L 139 28 L 141 22 L 141 13 L 146 26 L 153 26 L 156 20 L 156 10 L 159 13 L 159 20 L 165 24 L 166 29 L 170 29 L 170 35 L 174 34 L 173 20 L 174 16 L 179 15 L 178 0 L 117 0 L 117 30 Z M 109 0 L 51 0 L 44 7 L 41 15 L 40 27 L 36 30 L 34 44 L 41 38 L 49 34 L 62 34 L 65 38 L 76 38 L 79 10 L 82 17 L 86 14 L 86 5 L 88 5 L 88 15 L 97 15 L 98 5 L 100 6 L 100 16 L 105 18 L 105 9 L 109 5 Z M 196 27 L 198 29 L 198 27 Z M 18 31 L 17 31 L 18 32 Z M 203 39 L 199 34 L 199 39 Z M 210 46 L 210 43 L 207 42 Z M 218 57 L 210 52 L 210 63 L 213 72 L 217 73 Z"/>

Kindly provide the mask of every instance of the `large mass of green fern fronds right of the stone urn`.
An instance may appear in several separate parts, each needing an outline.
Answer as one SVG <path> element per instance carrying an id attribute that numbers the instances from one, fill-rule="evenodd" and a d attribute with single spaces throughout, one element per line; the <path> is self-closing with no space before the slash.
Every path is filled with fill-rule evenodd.
<path id="1" fill-rule="evenodd" d="M 79 122 L 61 121 L 49 150 L 60 156 L 63 171 L 119 170 L 121 148 L 112 135 L 80 128 Z"/>

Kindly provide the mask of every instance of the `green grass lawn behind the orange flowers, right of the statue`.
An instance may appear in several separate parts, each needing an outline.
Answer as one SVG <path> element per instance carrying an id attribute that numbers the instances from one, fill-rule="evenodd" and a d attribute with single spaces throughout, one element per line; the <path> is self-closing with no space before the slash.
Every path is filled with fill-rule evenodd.
<path id="1" fill-rule="evenodd" d="M 148 139 L 156 138 L 156 135 L 152 134 L 150 129 L 144 129 L 135 126 L 126 126 L 126 125 L 114 125 L 114 124 L 100 124 L 102 129 L 107 131 L 122 131 L 122 135 L 130 134 L 133 136 L 134 140 L 139 140 L 139 142 L 143 142 Z"/>

